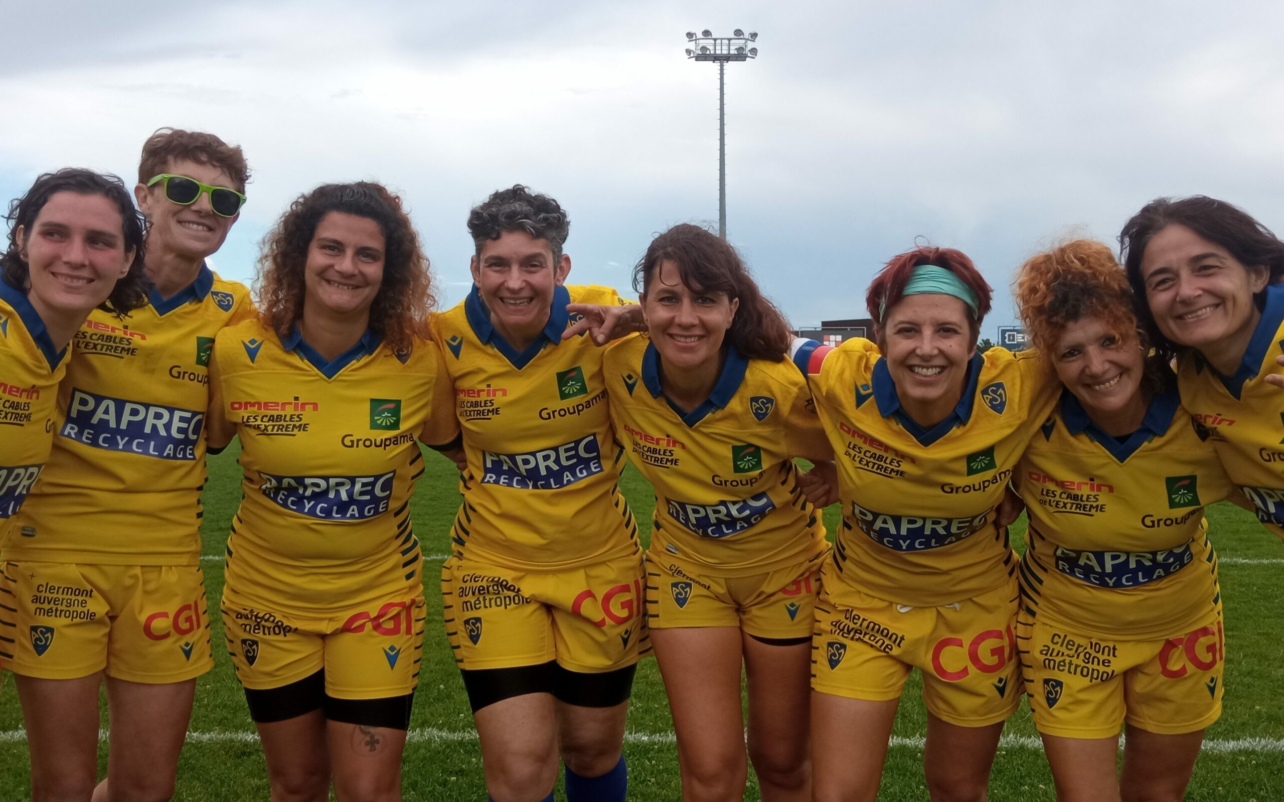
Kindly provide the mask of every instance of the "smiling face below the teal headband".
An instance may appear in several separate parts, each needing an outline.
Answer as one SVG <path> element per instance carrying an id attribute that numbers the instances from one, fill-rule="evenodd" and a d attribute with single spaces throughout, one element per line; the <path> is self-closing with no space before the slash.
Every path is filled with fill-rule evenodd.
<path id="1" fill-rule="evenodd" d="M 967 304 L 953 295 L 907 295 L 887 311 L 878 346 L 905 413 L 923 426 L 945 420 L 963 397 L 976 350 Z"/>

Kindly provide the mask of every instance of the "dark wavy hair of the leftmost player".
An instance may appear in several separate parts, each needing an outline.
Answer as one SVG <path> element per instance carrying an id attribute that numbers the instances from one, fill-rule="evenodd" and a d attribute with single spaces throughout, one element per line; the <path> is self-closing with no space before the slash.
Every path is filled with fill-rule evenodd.
<path id="1" fill-rule="evenodd" d="M 5 282 L 13 287 L 27 289 L 30 267 L 22 258 L 18 227 L 21 226 L 30 236 L 40 210 L 58 192 L 100 195 L 114 203 L 121 212 L 125 252 L 134 250 L 134 262 L 130 264 L 130 272 L 116 281 L 116 287 L 99 309 L 125 317 L 130 311 L 145 305 L 152 287 L 146 273 L 143 272 L 148 239 L 146 219 L 134 208 L 134 198 L 130 196 L 123 181 L 110 173 L 96 173 L 81 167 L 64 167 L 58 172 L 45 173 L 36 178 L 22 198 L 9 203 L 9 213 L 5 214 L 9 222 L 9 245 L 4 255 L 0 255 L 0 271 L 3 271 L 0 275 Z"/>

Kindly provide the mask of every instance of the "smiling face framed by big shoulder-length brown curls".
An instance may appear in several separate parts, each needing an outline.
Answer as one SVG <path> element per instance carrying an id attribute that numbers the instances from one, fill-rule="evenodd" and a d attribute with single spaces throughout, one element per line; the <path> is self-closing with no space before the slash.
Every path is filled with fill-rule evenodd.
<path id="1" fill-rule="evenodd" d="M 329 212 L 303 266 L 303 317 L 370 317 L 384 280 L 384 232 L 369 217 Z"/>

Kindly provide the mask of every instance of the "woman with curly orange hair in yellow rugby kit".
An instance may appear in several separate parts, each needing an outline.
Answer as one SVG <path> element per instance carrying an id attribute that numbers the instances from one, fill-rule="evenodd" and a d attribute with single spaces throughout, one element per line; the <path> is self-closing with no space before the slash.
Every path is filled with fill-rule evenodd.
<path id="1" fill-rule="evenodd" d="M 1077 240 L 1031 258 L 1016 300 L 1064 386 L 1013 479 L 1030 515 L 1017 647 L 1057 798 L 1181 799 L 1221 713 L 1203 506 L 1231 486 L 1163 358 L 1147 355 L 1108 246 Z"/>

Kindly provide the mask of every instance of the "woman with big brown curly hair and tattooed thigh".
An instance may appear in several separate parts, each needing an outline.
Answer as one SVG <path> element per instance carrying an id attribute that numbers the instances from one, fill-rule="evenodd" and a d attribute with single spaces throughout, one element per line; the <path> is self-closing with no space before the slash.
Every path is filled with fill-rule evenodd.
<path id="1" fill-rule="evenodd" d="M 268 235 L 262 320 L 214 341 L 209 447 L 240 438 L 222 616 L 273 799 L 399 799 L 424 643 L 416 439 L 457 438 L 420 321 L 428 258 L 377 183 L 320 186 Z M 291 399 L 291 400 L 276 400 Z"/>

